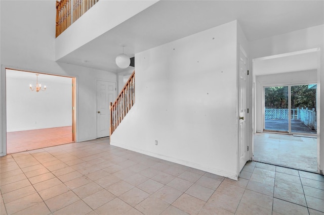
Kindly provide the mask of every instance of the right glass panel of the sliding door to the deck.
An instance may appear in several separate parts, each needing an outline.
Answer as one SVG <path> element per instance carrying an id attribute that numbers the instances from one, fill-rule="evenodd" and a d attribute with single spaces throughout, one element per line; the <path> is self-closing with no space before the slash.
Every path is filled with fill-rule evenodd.
<path id="1" fill-rule="evenodd" d="M 291 86 L 291 131 L 316 134 L 316 84 Z"/>

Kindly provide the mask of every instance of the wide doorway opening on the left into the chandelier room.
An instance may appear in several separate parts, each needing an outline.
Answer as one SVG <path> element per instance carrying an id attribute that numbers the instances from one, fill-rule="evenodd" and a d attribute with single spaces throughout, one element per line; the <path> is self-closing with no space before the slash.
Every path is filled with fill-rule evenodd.
<path id="1" fill-rule="evenodd" d="M 75 142 L 75 78 L 6 69 L 6 104 L 7 154 Z"/>

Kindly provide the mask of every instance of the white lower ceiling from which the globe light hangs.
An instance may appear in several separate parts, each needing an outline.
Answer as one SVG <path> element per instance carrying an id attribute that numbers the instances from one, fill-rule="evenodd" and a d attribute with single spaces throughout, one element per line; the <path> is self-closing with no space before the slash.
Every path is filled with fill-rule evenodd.
<path id="1" fill-rule="evenodd" d="M 159 1 L 58 62 L 110 72 L 135 53 L 238 20 L 248 41 L 324 24 L 324 1 Z"/>

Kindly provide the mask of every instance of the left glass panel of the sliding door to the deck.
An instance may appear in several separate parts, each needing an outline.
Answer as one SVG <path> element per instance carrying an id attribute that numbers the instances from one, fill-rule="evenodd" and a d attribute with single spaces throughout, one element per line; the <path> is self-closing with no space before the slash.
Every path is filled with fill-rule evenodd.
<path id="1" fill-rule="evenodd" d="M 289 132 L 288 86 L 264 88 L 264 131 Z"/>

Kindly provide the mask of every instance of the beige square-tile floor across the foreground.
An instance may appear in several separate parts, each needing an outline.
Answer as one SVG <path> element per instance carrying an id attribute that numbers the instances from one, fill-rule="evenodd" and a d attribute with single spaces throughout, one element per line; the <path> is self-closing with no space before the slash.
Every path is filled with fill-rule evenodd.
<path id="1" fill-rule="evenodd" d="M 234 181 L 108 142 L 1 157 L 1 214 L 324 214 L 324 176 L 248 162 Z"/>

